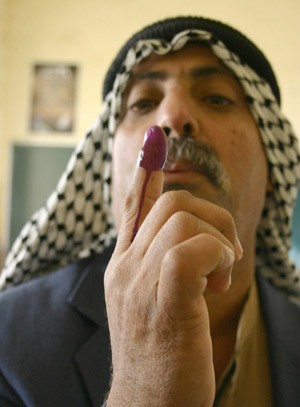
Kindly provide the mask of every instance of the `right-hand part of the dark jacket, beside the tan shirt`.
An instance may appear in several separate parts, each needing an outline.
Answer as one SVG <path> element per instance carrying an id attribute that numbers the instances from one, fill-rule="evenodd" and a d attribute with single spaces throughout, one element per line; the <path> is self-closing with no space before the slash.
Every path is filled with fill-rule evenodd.
<path id="1" fill-rule="evenodd" d="M 298 407 L 300 400 L 300 307 L 260 275 L 261 307 L 268 334 L 274 406 Z"/>

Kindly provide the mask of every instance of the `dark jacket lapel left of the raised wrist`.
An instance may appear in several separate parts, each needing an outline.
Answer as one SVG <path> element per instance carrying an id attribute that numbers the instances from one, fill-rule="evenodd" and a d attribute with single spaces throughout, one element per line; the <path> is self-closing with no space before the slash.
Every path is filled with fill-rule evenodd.
<path id="1" fill-rule="evenodd" d="M 89 394 L 91 405 L 99 407 L 109 388 L 111 355 L 105 311 L 103 276 L 112 249 L 95 256 L 81 274 L 68 297 L 69 303 L 95 325 L 94 334 L 75 355 L 75 363 Z"/>

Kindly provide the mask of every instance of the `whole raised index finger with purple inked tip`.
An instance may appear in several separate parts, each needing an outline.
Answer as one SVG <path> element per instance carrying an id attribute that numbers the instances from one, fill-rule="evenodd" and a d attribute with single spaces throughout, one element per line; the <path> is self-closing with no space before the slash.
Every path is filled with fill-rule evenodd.
<path id="1" fill-rule="evenodd" d="M 117 250 L 125 251 L 163 190 L 167 138 L 159 126 L 150 127 L 138 157 L 138 165 L 124 203 Z"/>

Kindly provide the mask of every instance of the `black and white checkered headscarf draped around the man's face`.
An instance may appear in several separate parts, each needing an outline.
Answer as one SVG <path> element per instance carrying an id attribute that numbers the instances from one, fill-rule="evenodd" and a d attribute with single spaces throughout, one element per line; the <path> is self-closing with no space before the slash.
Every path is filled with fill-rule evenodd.
<path id="1" fill-rule="evenodd" d="M 139 40 L 128 51 L 97 122 L 77 146 L 56 190 L 15 241 L 0 274 L 1 290 L 101 252 L 116 237 L 111 213 L 111 159 L 123 92 L 133 68 L 144 58 L 153 52 L 164 55 L 179 50 L 189 41 L 207 43 L 245 90 L 260 129 L 273 185 L 257 231 L 257 267 L 300 303 L 299 273 L 289 258 L 299 179 L 297 138 L 269 84 L 221 41 L 202 30 L 183 31 L 170 42 Z"/>

